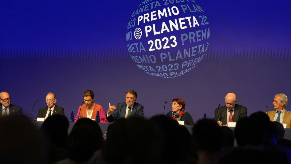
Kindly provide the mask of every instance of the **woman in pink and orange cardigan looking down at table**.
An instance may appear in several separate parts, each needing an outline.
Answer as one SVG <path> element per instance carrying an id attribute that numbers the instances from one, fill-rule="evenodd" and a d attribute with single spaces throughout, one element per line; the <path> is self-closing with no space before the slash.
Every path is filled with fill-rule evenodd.
<path id="1" fill-rule="evenodd" d="M 84 96 L 84 105 L 81 105 L 81 112 L 80 112 L 80 107 L 78 109 L 78 113 L 75 117 L 75 122 L 78 120 L 78 116 L 80 113 L 80 118 L 82 117 L 86 117 L 86 118 L 91 118 L 94 119 L 96 118 L 97 115 L 97 111 L 99 111 L 99 115 L 100 115 L 100 123 L 108 123 L 106 117 L 105 117 L 105 112 L 104 109 L 102 108 L 101 105 L 93 102 L 94 101 L 94 93 L 92 90 L 86 90 L 83 94 Z"/>

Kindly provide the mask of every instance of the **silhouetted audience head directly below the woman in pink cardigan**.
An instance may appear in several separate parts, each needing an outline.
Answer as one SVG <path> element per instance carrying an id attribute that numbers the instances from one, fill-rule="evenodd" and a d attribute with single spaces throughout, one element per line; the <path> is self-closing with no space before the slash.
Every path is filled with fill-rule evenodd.
<path id="1" fill-rule="evenodd" d="M 104 143 L 100 126 L 89 118 L 77 121 L 68 136 L 69 158 L 76 162 L 88 161 Z"/>

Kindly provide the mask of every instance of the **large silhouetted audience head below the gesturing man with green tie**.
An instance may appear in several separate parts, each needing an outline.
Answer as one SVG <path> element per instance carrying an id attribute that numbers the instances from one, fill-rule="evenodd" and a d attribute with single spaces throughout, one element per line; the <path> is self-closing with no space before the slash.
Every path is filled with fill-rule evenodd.
<path id="1" fill-rule="evenodd" d="M 143 118 L 120 118 L 109 125 L 102 159 L 107 164 L 158 163 L 157 130 Z"/>

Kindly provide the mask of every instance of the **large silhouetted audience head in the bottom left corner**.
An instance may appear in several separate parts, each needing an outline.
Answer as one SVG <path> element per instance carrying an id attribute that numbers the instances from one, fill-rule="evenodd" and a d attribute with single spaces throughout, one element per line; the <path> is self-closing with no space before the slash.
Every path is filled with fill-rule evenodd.
<path id="1" fill-rule="evenodd" d="M 0 163 L 49 163 L 45 137 L 24 116 L 0 119 Z"/>

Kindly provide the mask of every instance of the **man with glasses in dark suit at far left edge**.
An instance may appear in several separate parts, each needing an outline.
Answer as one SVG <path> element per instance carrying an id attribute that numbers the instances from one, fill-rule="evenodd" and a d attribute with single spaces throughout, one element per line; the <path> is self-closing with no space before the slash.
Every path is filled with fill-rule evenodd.
<path id="1" fill-rule="evenodd" d="M 10 104 L 11 97 L 7 92 L 0 93 L 1 112 L 0 116 L 22 115 L 22 108 Z"/>

